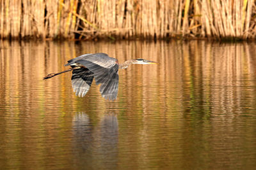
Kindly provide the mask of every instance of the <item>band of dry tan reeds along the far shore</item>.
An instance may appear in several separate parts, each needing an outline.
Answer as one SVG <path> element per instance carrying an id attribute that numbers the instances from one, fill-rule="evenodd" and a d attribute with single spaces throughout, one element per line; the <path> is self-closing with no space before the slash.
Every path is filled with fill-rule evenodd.
<path id="1" fill-rule="evenodd" d="M 0 39 L 256 38 L 254 0 L 0 2 Z"/>

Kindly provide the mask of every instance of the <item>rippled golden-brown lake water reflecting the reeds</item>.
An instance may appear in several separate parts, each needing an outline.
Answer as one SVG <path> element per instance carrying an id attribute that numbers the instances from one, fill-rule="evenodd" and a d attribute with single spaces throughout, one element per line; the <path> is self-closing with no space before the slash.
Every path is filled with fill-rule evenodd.
<path id="1" fill-rule="evenodd" d="M 67 60 L 119 62 L 116 101 L 77 97 Z M 256 43 L 17 42 L 0 46 L 0 169 L 253 169 Z"/>

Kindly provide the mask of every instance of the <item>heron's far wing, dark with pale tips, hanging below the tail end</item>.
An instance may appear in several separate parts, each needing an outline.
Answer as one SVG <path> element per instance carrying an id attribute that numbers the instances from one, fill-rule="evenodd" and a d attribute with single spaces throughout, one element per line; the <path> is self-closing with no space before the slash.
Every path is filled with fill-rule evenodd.
<path id="1" fill-rule="evenodd" d="M 71 80 L 76 96 L 84 97 L 92 85 L 93 73 L 85 67 L 74 69 Z"/>

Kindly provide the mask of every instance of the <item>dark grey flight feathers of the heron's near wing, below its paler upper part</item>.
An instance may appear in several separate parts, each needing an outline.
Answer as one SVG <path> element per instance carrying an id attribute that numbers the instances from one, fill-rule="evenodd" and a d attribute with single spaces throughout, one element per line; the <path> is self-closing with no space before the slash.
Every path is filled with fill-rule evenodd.
<path id="1" fill-rule="evenodd" d="M 96 84 L 100 85 L 102 97 L 109 100 L 115 100 L 118 92 L 118 64 L 112 67 L 102 67 L 99 64 L 88 60 L 77 60 L 76 63 L 83 65 L 92 71 Z"/>

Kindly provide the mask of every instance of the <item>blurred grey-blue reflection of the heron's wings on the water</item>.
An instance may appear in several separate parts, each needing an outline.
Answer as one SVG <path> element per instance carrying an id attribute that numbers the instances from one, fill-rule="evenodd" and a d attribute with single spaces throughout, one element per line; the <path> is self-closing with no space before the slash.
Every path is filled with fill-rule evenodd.
<path id="1" fill-rule="evenodd" d="M 112 169 L 117 166 L 118 120 L 115 113 L 104 113 L 99 122 L 86 113 L 76 113 L 72 124 L 73 160 L 77 168 Z"/>

